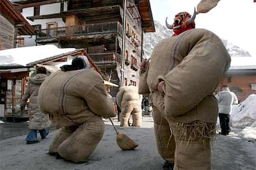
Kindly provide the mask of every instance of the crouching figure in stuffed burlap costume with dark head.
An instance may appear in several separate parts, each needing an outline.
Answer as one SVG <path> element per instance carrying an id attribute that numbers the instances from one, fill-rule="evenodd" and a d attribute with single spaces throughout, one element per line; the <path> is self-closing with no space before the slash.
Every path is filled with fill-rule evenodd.
<path id="1" fill-rule="evenodd" d="M 87 161 L 103 137 L 102 117 L 116 116 L 100 74 L 86 68 L 81 57 L 64 65 L 41 84 L 38 103 L 60 127 L 49 146 L 49 154 L 74 163 Z"/>

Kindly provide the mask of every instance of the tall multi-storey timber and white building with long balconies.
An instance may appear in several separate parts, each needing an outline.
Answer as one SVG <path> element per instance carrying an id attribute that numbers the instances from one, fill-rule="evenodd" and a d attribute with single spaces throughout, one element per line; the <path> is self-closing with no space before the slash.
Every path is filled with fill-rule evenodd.
<path id="1" fill-rule="evenodd" d="M 123 74 L 124 85 L 139 84 L 143 33 L 155 31 L 149 0 L 11 2 L 35 27 L 36 44 L 86 49 L 106 80 L 121 85 Z"/>

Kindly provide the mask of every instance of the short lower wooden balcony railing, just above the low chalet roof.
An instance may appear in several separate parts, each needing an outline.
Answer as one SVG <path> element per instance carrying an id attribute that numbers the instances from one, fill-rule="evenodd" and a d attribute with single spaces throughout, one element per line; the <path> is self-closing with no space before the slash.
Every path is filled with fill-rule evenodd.
<path id="1" fill-rule="evenodd" d="M 89 54 L 95 64 L 113 64 L 116 62 L 121 63 L 121 55 L 115 52 Z"/>

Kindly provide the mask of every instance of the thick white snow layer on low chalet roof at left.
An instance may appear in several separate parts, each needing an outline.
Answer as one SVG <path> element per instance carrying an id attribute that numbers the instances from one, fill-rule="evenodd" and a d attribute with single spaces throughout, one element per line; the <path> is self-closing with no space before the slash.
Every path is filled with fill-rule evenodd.
<path id="1" fill-rule="evenodd" d="M 6 49 L 0 51 L 0 67 L 9 65 L 26 66 L 28 63 L 35 62 L 37 60 L 46 59 L 54 55 L 65 54 L 72 51 L 75 51 L 75 49 L 59 49 L 53 44 Z"/>

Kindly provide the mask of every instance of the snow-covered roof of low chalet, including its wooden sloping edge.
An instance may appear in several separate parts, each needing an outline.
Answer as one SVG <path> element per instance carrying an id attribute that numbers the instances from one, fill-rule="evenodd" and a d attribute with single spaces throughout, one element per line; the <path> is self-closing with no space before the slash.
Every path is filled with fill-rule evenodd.
<path id="1" fill-rule="evenodd" d="M 0 72 L 16 68 L 32 68 L 35 65 L 44 65 L 54 71 L 64 64 L 71 64 L 74 57 L 86 56 L 93 70 L 101 75 L 93 60 L 85 49 L 66 48 L 59 49 L 53 44 L 44 46 L 19 47 L 0 51 Z M 57 60 L 64 59 L 62 62 Z"/>

